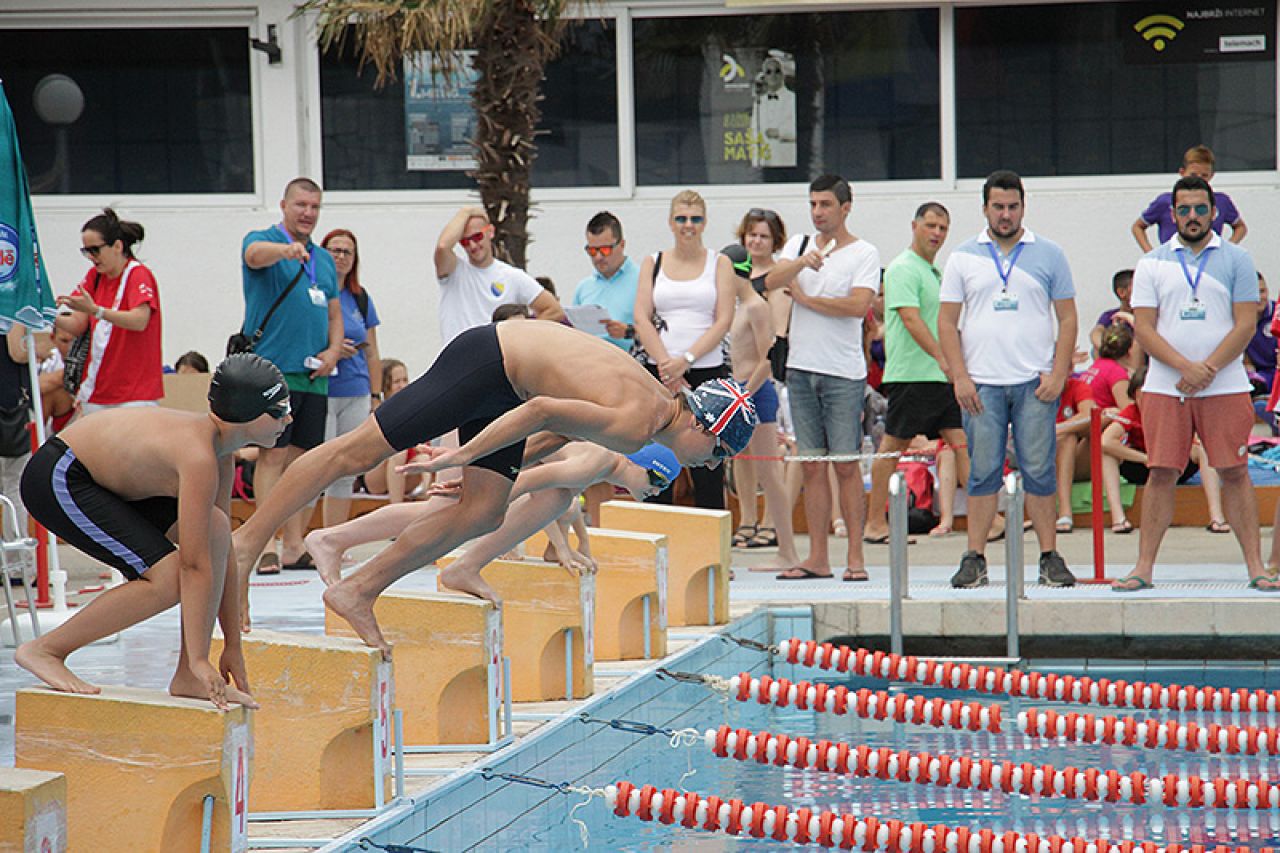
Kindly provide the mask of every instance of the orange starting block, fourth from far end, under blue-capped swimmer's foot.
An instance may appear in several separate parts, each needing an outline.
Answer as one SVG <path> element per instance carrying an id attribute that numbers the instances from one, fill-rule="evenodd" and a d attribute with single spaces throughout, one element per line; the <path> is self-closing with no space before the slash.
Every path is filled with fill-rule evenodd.
<path id="1" fill-rule="evenodd" d="M 383 593 L 374 603 L 374 616 L 393 647 L 404 743 L 495 743 L 502 708 L 498 611 L 470 596 L 404 590 Z M 328 608 L 324 629 L 332 637 L 355 637 Z"/>

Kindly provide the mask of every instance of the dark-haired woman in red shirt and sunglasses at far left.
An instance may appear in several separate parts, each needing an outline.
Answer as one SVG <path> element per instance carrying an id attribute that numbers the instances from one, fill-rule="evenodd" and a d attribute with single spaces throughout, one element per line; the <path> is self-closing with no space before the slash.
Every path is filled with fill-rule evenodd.
<path id="1" fill-rule="evenodd" d="M 90 333 L 76 394 L 84 414 L 115 406 L 155 406 L 164 397 L 160 292 L 155 275 L 133 255 L 142 225 L 106 207 L 81 228 L 81 255 L 92 268 L 69 296 L 58 328 Z"/>

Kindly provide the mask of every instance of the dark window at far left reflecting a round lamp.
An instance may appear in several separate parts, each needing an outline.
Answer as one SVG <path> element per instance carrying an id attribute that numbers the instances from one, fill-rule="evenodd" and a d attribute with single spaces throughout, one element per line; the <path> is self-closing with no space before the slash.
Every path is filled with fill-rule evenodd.
<path id="1" fill-rule="evenodd" d="M 253 191 L 248 29 L 3 29 L 37 193 Z"/>

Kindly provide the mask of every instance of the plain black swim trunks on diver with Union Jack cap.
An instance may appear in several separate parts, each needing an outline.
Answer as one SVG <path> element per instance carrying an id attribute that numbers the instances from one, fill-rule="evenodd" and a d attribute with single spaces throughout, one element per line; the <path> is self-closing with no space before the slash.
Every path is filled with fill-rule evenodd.
<path id="1" fill-rule="evenodd" d="M 521 400 L 507 379 L 498 328 L 481 325 L 453 338 L 435 364 L 378 407 L 383 438 L 397 451 L 457 429 L 466 444 Z M 525 459 L 525 441 L 483 456 L 471 465 L 515 480 Z"/>

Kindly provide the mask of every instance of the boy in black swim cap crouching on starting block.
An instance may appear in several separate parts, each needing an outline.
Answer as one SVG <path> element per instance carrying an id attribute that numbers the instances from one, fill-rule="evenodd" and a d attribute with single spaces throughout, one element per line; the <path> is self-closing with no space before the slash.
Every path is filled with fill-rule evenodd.
<path id="1" fill-rule="evenodd" d="M 257 707 L 241 651 L 239 597 L 228 581 L 233 455 L 275 444 L 291 421 L 289 389 L 269 361 L 236 355 L 214 373 L 209 405 L 209 412 L 95 412 L 45 442 L 23 471 L 31 515 L 129 580 L 18 648 L 18 665 L 55 690 L 99 693 L 67 667 L 67 656 L 180 605 L 182 654 L 169 693 L 219 708 Z M 209 661 L 215 615 L 225 638 L 216 666 Z"/>

